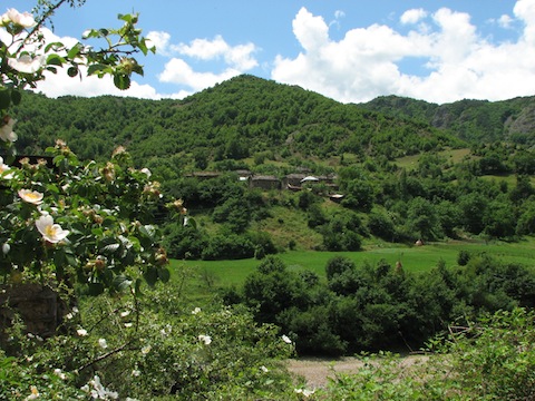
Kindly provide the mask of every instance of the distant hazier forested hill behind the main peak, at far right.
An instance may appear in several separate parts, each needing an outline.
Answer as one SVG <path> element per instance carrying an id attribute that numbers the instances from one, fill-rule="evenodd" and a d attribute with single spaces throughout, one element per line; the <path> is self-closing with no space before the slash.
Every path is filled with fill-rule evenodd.
<path id="1" fill-rule="evenodd" d="M 398 96 L 383 96 L 359 107 L 391 117 L 425 121 L 473 143 L 509 140 L 535 145 L 535 96 L 494 102 L 460 100 L 440 106 Z"/>

